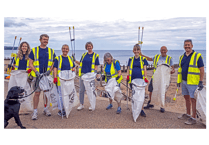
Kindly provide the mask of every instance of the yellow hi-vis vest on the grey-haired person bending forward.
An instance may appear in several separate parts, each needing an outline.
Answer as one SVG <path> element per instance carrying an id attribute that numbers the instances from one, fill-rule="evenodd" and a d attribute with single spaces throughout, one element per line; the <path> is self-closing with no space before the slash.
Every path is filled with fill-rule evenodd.
<path id="1" fill-rule="evenodd" d="M 114 60 L 113 60 L 114 61 Z M 113 63 L 116 64 L 116 62 L 119 63 L 118 60 L 115 60 L 115 62 L 112 62 L 111 63 L 111 67 L 110 67 L 110 75 L 111 75 L 111 78 L 117 78 L 118 77 L 118 71 L 117 69 L 115 68 L 115 65 Z M 107 66 L 107 63 L 104 64 L 104 74 L 105 74 L 105 82 L 107 82 L 107 74 L 106 74 L 106 66 Z M 121 81 L 123 80 L 123 76 L 121 75 L 120 78 L 117 80 L 118 84 L 121 83 Z"/>

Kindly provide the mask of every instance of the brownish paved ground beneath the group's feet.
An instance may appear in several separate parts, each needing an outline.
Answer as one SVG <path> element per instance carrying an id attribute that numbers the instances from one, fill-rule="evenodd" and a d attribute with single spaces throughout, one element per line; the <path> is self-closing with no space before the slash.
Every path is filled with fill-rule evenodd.
<path id="1" fill-rule="evenodd" d="M 42 99 L 41 99 L 42 100 Z M 31 115 L 20 115 L 22 124 L 28 129 L 205 129 L 206 126 L 197 123 L 195 125 L 185 125 L 184 120 L 179 120 L 179 113 L 161 113 L 157 109 L 145 110 L 147 117 L 139 117 L 135 123 L 132 118 L 131 110 L 127 110 L 126 102 L 122 103 L 122 113 L 116 114 L 117 104 L 113 103 L 113 108 L 105 110 L 109 101 L 106 98 L 97 98 L 96 110 L 88 110 L 89 102 L 85 96 L 84 110 L 77 111 L 74 108 L 68 119 L 57 115 L 57 110 L 51 111 L 52 116 L 43 115 L 43 101 L 39 102 L 38 120 L 31 120 Z M 131 109 L 131 103 L 129 102 Z M 14 119 L 9 121 L 7 129 L 19 129 Z"/>

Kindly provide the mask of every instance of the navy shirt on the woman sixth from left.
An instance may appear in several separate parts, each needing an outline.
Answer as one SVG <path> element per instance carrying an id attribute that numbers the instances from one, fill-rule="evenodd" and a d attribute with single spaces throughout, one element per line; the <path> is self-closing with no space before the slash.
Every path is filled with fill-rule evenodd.
<path id="1" fill-rule="evenodd" d="M 144 61 L 144 66 L 148 65 L 148 62 L 146 59 L 143 60 Z M 130 68 L 131 65 L 131 59 L 129 58 L 128 60 L 128 66 Z M 132 76 L 131 76 L 131 80 L 136 79 L 136 78 L 141 78 L 142 77 L 142 72 L 141 72 L 141 62 L 140 62 L 140 58 L 135 58 L 134 57 L 134 62 L 133 62 L 133 70 L 132 70 Z"/>

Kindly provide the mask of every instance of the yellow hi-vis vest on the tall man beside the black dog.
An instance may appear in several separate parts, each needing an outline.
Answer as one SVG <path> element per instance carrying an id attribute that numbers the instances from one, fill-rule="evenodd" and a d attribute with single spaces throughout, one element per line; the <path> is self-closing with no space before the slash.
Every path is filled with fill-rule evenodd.
<path id="1" fill-rule="evenodd" d="M 39 71 L 39 46 L 32 48 L 33 51 L 33 55 L 34 55 L 34 61 L 33 61 L 33 66 L 35 67 L 35 69 Z M 53 64 L 53 56 L 54 56 L 54 49 L 51 49 L 48 47 L 48 54 L 49 54 L 49 59 L 48 59 L 48 67 L 47 67 L 47 71 L 50 70 L 52 64 Z M 36 74 L 34 71 L 31 71 L 31 75 L 33 77 L 36 77 Z M 50 73 L 50 75 L 52 75 L 52 72 Z"/>

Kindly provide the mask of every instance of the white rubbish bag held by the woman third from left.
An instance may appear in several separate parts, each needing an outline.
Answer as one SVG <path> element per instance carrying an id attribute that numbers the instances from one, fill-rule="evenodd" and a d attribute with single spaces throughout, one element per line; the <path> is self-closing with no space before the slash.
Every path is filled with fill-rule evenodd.
<path id="1" fill-rule="evenodd" d="M 72 108 L 79 103 L 74 85 L 75 73 L 71 70 L 63 70 L 59 73 L 59 78 L 63 106 L 65 108 L 66 117 L 68 118 Z"/>

